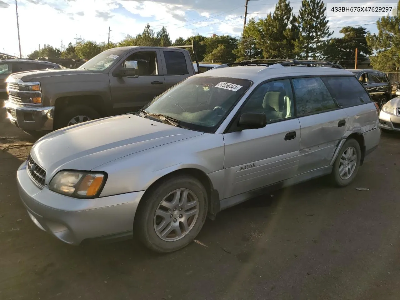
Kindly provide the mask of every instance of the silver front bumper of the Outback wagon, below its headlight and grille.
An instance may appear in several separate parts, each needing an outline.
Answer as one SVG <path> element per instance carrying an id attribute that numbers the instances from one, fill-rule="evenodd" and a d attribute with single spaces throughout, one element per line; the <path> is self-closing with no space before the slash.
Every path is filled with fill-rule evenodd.
<path id="1" fill-rule="evenodd" d="M 21 200 L 40 229 L 68 244 L 83 240 L 132 236 L 133 220 L 144 191 L 76 199 L 38 188 L 28 176 L 26 162 L 17 171 Z"/>

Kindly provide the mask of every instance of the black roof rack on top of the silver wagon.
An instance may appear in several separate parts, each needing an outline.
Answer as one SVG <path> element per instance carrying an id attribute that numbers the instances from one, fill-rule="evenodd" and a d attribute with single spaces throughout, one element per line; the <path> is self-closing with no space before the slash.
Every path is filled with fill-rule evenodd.
<path id="1" fill-rule="evenodd" d="M 294 60 L 294 59 L 284 59 L 284 58 L 264 58 L 264 59 L 250 59 L 243 60 L 241 62 L 230 62 L 218 66 L 218 68 L 225 68 L 230 66 L 273 66 L 280 64 L 281 66 L 306 66 L 313 67 L 313 65 L 325 65 L 332 68 L 344 69 L 340 64 L 334 64 L 326 60 Z"/>

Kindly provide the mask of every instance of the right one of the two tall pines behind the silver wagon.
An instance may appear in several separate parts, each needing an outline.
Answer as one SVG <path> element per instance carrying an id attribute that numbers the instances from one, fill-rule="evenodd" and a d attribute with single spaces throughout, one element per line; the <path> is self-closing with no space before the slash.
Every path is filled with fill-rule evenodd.
<path id="1" fill-rule="evenodd" d="M 329 30 L 325 11 L 322 0 L 302 0 L 297 20 L 300 36 L 295 46 L 299 58 L 317 59 L 324 51 L 326 39 L 333 34 Z"/>

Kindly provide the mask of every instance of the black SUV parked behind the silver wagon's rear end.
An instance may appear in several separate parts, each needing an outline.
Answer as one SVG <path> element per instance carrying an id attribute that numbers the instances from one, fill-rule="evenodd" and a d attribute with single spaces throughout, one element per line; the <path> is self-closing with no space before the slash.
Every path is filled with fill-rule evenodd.
<path id="1" fill-rule="evenodd" d="M 392 85 L 385 73 L 376 70 L 348 70 L 362 82 L 379 108 L 392 99 Z M 394 90 L 396 92 L 396 90 Z"/>

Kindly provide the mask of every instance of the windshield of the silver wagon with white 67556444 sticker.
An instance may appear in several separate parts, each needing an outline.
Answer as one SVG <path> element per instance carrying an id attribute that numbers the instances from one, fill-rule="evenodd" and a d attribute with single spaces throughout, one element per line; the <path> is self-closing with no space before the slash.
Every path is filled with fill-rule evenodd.
<path id="1" fill-rule="evenodd" d="M 189 77 L 146 105 L 140 115 L 162 115 L 182 127 L 214 132 L 251 84 L 236 78 Z"/>

